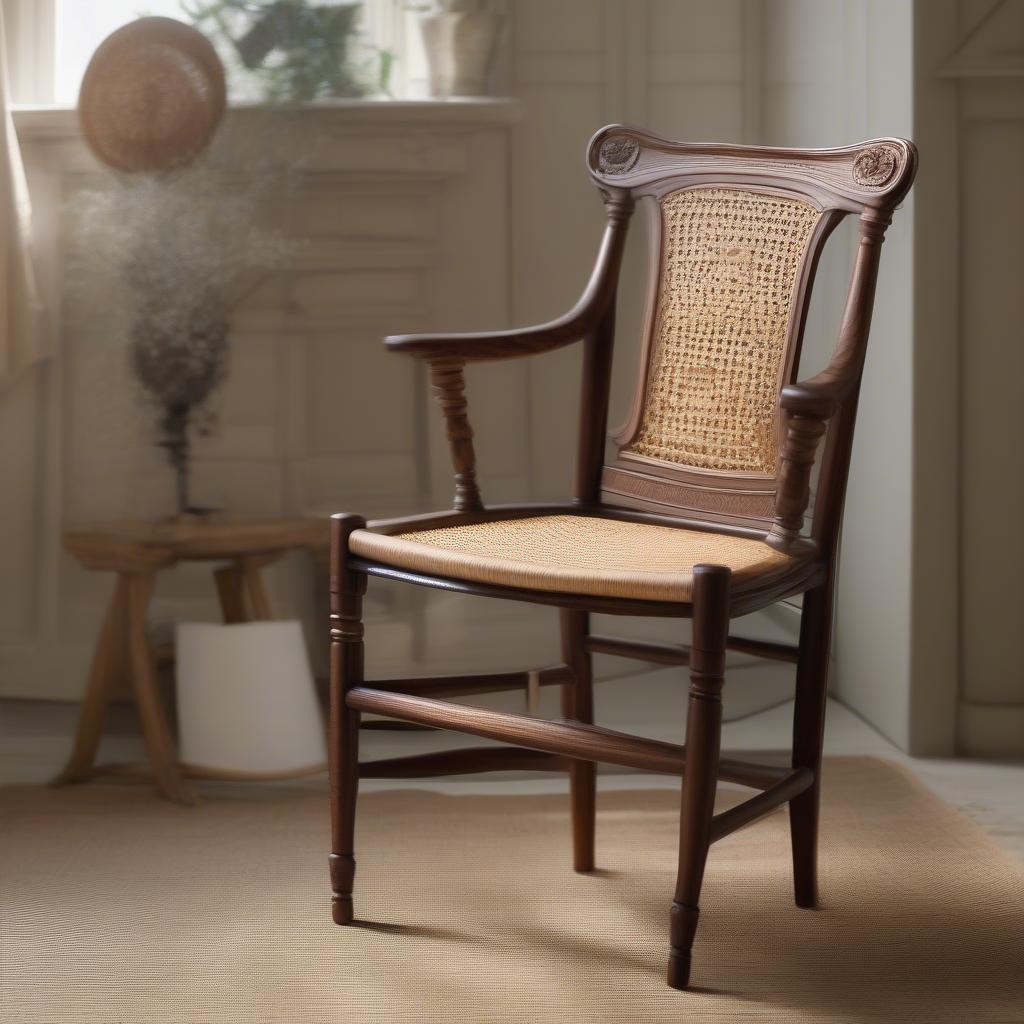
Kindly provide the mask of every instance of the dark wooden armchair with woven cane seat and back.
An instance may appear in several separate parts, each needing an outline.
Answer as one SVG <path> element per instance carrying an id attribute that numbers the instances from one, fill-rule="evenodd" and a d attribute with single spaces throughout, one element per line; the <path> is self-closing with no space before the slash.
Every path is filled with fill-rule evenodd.
<path id="1" fill-rule="evenodd" d="M 590 176 L 607 211 L 583 297 L 541 327 L 387 339 L 429 364 L 455 466 L 452 511 L 378 522 L 332 519 L 333 915 L 352 921 L 353 830 L 362 777 L 502 769 L 567 770 L 573 866 L 594 867 L 595 762 L 682 776 L 669 984 L 685 988 L 712 843 L 790 806 L 796 902 L 816 899 L 821 744 L 836 551 L 879 257 L 916 151 L 887 138 L 837 150 L 688 145 L 612 125 L 591 139 Z M 610 436 L 615 289 L 637 199 L 653 218 L 644 347 L 632 414 Z M 815 266 L 857 214 L 859 247 L 827 368 L 796 383 Z M 485 507 L 464 394 L 466 362 L 583 344 L 572 501 Z M 818 458 L 820 450 L 820 460 Z M 811 476 L 818 468 L 811 504 Z M 805 528 L 806 527 L 806 528 Z M 562 665 L 535 672 L 366 682 L 361 595 L 369 577 L 559 609 Z M 803 595 L 798 646 L 732 636 L 729 621 Z M 692 620 L 688 646 L 591 632 L 590 613 Z M 797 665 L 792 766 L 720 752 L 727 649 Z M 686 743 L 593 724 L 591 657 L 689 667 Z M 561 687 L 560 721 L 438 699 Z M 504 748 L 358 763 L 364 712 L 454 729 Z M 716 814 L 719 779 L 758 791 Z"/>

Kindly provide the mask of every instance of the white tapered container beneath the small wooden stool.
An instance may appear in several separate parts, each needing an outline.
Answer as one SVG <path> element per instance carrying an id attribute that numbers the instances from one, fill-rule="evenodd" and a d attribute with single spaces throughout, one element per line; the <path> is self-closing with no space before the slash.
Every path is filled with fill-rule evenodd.
<path id="1" fill-rule="evenodd" d="M 181 623 L 176 663 L 179 757 L 191 772 L 280 778 L 326 768 L 297 622 Z"/>

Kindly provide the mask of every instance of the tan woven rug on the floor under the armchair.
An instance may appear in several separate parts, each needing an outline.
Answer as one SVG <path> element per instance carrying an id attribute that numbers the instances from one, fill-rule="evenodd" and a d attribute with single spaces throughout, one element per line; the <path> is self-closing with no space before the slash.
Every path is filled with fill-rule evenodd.
<path id="1" fill-rule="evenodd" d="M 734 834 L 676 992 L 671 792 L 601 794 L 589 877 L 564 797 L 367 795 L 337 928 L 323 793 L 0 791 L 0 1019 L 1024 1021 L 1019 867 L 887 763 L 829 761 L 825 795 L 821 908 L 793 904 L 783 811 Z"/>

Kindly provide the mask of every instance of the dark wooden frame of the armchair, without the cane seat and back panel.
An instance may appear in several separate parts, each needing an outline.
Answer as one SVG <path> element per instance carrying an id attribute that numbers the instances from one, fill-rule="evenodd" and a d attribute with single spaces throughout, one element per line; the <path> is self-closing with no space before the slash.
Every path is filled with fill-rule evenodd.
<path id="1" fill-rule="evenodd" d="M 892 211 L 912 183 L 916 152 L 903 139 L 877 139 L 817 151 L 687 145 L 637 128 L 612 125 L 591 139 L 588 168 L 604 199 L 607 224 L 591 279 L 568 313 L 534 328 L 387 339 L 391 350 L 424 359 L 430 366 L 433 389 L 445 419 L 456 494 L 449 512 L 375 522 L 369 528 L 401 535 L 538 515 L 588 515 L 757 537 L 792 557 L 781 569 L 742 583 L 734 581 L 726 566 L 693 566 L 688 602 L 596 597 L 432 575 L 358 557 L 350 550 L 349 538 L 354 530 L 368 528 L 366 521 L 351 513 L 332 517 L 329 752 L 333 916 L 341 925 L 353 921 L 354 826 L 360 777 L 567 771 L 573 867 L 589 871 L 595 865 L 595 764 L 680 775 L 679 864 L 670 911 L 668 981 L 675 988 L 685 988 L 690 979 L 699 895 L 712 843 L 787 804 L 796 901 L 811 907 L 817 899 L 821 751 L 838 537 L 880 248 Z M 785 379 L 779 386 L 778 470 L 773 477 L 753 484 L 749 477 L 728 478 L 723 474 L 709 480 L 708 474 L 701 476 L 685 467 L 637 471 L 636 465 L 623 456 L 628 429 L 613 435 L 617 452 L 610 463 L 605 458 L 614 298 L 630 216 L 637 199 L 649 198 L 656 205 L 674 190 L 701 185 L 793 195 L 812 202 L 820 211 L 798 282 Z M 824 371 L 797 382 L 800 342 L 817 258 L 828 233 L 850 213 L 858 216 L 860 244 L 839 341 Z M 649 339 L 652 300 L 648 306 Z M 538 354 L 574 342 L 583 344 L 583 370 L 571 503 L 485 508 L 476 479 L 465 365 Z M 643 400 L 648 359 L 649 352 L 644 356 L 637 403 Z M 805 534 L 811 472 L 819 461 L 817 495 L 810 529 Z M 764 515 L 763 501 L 757 505 L 760 512 L 723 514 L 716 502 L 721 500 L 722 489 L 730 486 L 744 494 L 760 490 L 767 495 L 772 502 L 771 515 Z M 361 600 L 371 577 L 555 606 L 560 616 L 562 662 L 513 673 L 368 682 L 364 676 Z M 798 594 L 803 595 L 803 608 L 797 645 L 730 635 L 731 618 Z M 689 644 L 654 644 L 594 634 L 590 615 L 595 612 L 690 618 L 691 640 Z M 749 763 L 720 750 L 721 694 L 729 649 L 797 666 L 793 753 L 787 767 Z M 687 666 L 690 684 L 685 743 L 666 743 L 595 726 L 595 653 Z M 561 688 L 561 720 L 546 721 L 440 699 L 537 685 Z M 360 764 L 359 725 L 366 713 L 453 729 L 508 745 Z M 750 786 L 757 793 L 716 814 L 715 792 L 720 779 Z"/>

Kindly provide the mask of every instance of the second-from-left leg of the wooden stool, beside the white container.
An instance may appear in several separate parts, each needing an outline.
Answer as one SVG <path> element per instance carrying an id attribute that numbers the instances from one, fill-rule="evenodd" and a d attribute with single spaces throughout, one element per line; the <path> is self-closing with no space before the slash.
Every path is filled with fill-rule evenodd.
<path id="1" fill-rule="evenodd" d="M 160 706 L 153 650 L 145 633 L 145 613 L 153 595 L 153 573 L 132 573 L 128 577 L 128 650 L 132 688 L 160 792 L 175 803 L 195 804 L 196 795 L 178 768 L 174 739 Z"/>

